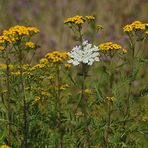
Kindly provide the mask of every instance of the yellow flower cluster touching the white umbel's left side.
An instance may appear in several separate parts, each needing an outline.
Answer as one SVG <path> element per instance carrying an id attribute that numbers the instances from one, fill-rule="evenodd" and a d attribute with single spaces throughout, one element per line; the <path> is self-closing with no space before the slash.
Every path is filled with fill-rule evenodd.
<path id="1" fill-rule="evenodd" d="M 45 58 L 47 58 L 49 61 L 53 63 L 59 63 L 63 62 L 64 60 L 67 60 L 68 54 L 66 52 L 54 51 L 52 53 L 47 53 L 45 55 Z"/>

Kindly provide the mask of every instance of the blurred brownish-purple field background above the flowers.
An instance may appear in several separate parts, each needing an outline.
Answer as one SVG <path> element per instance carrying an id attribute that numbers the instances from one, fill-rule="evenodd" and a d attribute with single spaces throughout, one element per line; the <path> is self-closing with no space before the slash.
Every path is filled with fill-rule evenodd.
<path id="1" fill-rule="evenodd" d="M 147 0 L 0 0 L 0 32 L 14 25 L 36 26 L 41 45 L 38 58 L 50 50 L 70 50 L 75 42 L 64 20 L 74 15 L 94 15 L 104 30 L 98 43 L 125 44 L 122 27 L 135 20 L 148 22 Z M 125 45 L 126 46 L 126 45 Z"/>

